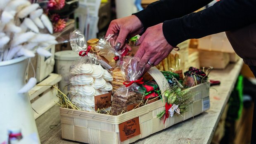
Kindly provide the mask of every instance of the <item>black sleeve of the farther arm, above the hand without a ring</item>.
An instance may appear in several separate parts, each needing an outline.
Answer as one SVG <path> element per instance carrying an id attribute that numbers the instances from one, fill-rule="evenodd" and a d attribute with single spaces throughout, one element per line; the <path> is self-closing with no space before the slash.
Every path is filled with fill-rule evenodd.
<path id="1" fill-rule="evenodd" d="M 159 0 L 134 15 L 140 19 L 145 31 L 158 23 L 190 14 L 211 1 L 213 0 Z"/>

